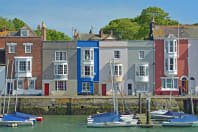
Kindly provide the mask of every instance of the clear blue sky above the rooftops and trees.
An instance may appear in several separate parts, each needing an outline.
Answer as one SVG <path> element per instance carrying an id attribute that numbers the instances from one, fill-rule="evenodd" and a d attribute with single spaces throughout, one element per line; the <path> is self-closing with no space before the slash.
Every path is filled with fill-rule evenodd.
<path id="1" fill-rule="evenodd" d="M 133 18 L 157 6 L 182 24 L 198 22 L 197 0 L 0 0 L 0 16 L 24 20 L 32 29 L 44 21 L 48 28 L 72 36 L 72 27 L 97 33 L 116 18 Z"/>

